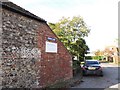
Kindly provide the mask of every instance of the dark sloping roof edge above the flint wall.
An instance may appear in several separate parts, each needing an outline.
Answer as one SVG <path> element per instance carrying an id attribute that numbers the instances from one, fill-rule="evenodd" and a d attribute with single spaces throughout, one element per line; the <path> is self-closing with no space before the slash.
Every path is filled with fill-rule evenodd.
<path id="1" fill-rule="evenodd" d="M 5 8 L 7 10 L 11 10 L 13 12 L 22 14 L 23 16 L 27 16 L 29 18 L 35 19 L 37 21 L 46 22 L 44 19 L 32 14 L 31 12 L 21 8 L 20 6 L 14 4 L 12 2 L 1 2 L 0 1 L 0 6 L 2 6 L 2 8 Z"/>

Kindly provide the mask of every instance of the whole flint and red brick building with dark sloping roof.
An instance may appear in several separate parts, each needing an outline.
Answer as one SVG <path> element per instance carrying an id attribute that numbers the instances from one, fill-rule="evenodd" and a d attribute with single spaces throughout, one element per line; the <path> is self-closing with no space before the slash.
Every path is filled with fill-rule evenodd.
<path id="1" fill-rule="evenodd" d="M 45 20 L 12 2 L 0 7 L 3 87 L 40 88 L 72 78 L 72 57 Z"/>

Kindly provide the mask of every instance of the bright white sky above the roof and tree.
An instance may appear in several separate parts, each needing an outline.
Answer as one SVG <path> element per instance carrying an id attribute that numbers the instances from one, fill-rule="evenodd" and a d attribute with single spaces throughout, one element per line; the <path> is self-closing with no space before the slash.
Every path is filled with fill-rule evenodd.
<path id="1" fill-rule="evenodd" d="M 63 16 L 81 16 L 91 29 L 85 38 L 90 51 L 117 45 L 119 0 L 9 0 L 31 13 L 56 23 Z"/>

